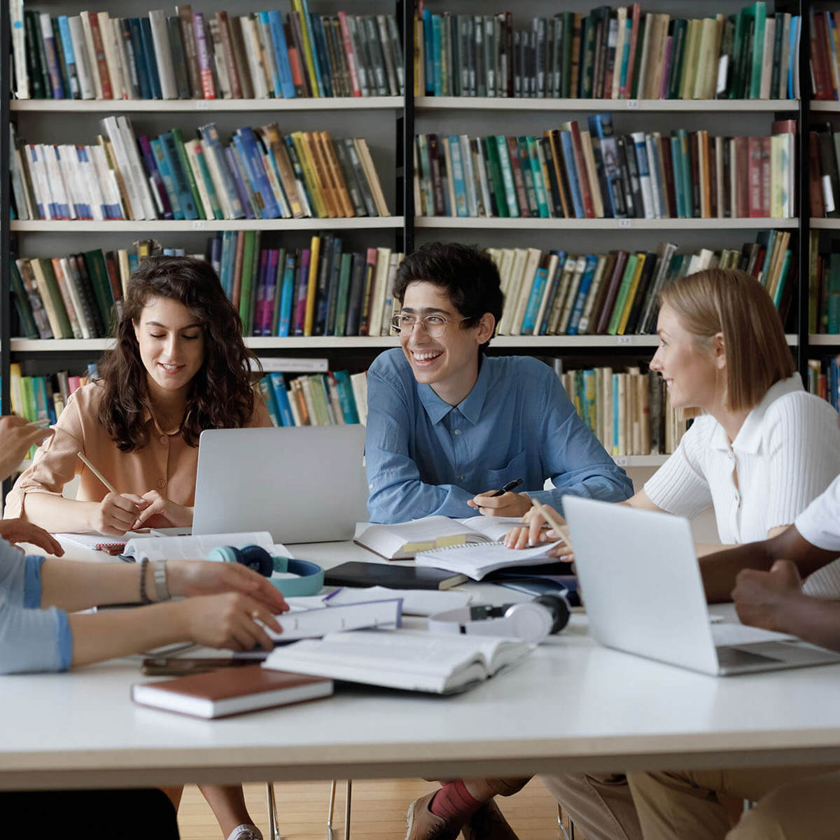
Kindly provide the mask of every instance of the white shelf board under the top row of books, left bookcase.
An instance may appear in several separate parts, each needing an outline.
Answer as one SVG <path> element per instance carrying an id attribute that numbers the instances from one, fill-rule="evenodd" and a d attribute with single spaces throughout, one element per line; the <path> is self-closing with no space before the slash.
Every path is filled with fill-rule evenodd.
<path id="1" fill-rule="evenodd" d="M 325 97 L 323 99 L 13 99 L 13 112 L 190 113 L 226 111 L 382 111 L 405 107 L 404 97 Z"/>

